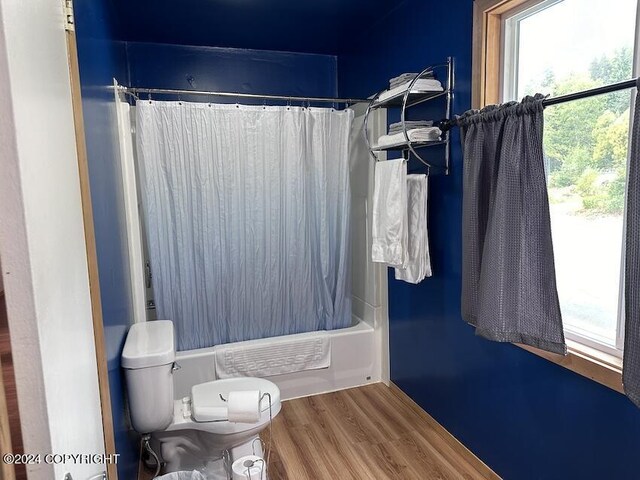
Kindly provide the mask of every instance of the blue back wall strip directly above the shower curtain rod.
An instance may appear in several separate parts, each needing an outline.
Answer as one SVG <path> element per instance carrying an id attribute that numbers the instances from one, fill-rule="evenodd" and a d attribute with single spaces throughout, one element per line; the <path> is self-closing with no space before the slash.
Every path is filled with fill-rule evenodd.
<path id="1" fill-rule="evenodd" d="M 337 94 L 337 60 L 330 55 L 136 42 L 127 43 L 127 54 L 131 85 L 137 87 Z"/>

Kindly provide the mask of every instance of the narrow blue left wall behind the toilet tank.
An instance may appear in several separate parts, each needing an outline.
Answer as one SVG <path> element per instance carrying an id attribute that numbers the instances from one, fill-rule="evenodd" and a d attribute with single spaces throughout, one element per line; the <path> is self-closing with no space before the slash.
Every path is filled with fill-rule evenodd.
<path id="1" fill-rule="evenodd" d="M 118 472 L 128 480 L 136 476 L 139 448 L 125 413 L 120 352 L 133 316 L 114 95 L 109 88 L 113 77 L 127 81 L 126 51 L 124 43 L 113 40 L 114 12 L 107 0 L 76 0 L 74 5 L 111 410 L 116 451 L 121 455 Z"/>

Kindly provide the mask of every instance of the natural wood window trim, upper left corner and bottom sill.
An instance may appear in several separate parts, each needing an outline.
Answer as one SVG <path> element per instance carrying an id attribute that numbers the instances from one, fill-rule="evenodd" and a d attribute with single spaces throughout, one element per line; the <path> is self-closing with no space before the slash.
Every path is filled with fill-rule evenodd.
<path id="1" fill-rule="evenodd" d="M 475 0 L 473 3 L 473 108 L 500 103 L 503 78 L 503 18 L 544 0 Z M 567 340 L 566 356 L 528 345 L 515 344 L 528 352 L 595 380 L 617 392 L 622 386 L 622 359 L 576 341 Z"/>

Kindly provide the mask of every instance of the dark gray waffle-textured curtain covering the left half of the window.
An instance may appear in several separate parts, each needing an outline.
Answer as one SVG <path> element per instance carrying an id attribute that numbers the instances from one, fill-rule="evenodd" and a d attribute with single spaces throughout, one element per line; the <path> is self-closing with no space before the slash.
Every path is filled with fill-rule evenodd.
<path id="1" fill-rule="evenodd" d="M 542 148 L 542 95 L 458 117 L 462 317 L 476 333 L 566 354 Z"/>

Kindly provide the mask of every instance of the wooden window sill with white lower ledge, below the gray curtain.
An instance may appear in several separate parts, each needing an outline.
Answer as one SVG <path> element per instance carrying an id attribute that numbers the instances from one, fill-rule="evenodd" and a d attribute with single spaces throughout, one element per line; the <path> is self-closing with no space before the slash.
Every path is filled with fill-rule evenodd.
<path id="1" fill-rule="evenodd" d="M 550 362 L 561 365 L 572 372 L 612 388 L 616 392 L 624 393 L 622 388 L 622 359 L 600 352 L 594 348 L 567 340 L 566 356 L 545 352 L 539 348 L 516 343 L 520 348 L 538 355 Z"/>

